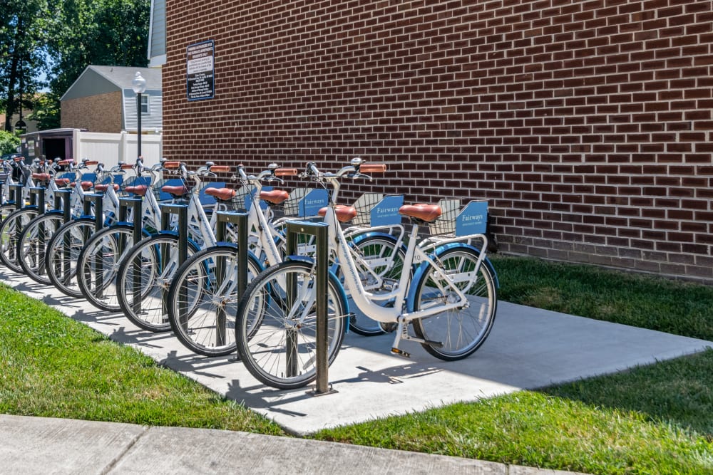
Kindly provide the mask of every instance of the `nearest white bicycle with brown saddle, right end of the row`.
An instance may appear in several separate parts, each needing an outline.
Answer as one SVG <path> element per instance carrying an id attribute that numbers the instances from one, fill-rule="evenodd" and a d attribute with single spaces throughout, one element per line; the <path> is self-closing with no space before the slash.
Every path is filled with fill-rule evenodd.
<path id="1" fill-rule="evenodd" d="M 307 165 L 305 176 L 339 190 L 342 177 L 360 177 L 371 166 L 352 160 L 336 174 Z M 327 281 L 328 364 L 339 353 L 344 322 L 349 317 L 348 289 L 354 304 L 369 318 L 393 323 L 391 352 L 409 357 L 399 348 L 403 340 L 420 343 L 441 360 L 460 360 L 481 347 L 493 326 L 497 308 L 497 280 L 486 259 L 483 234 L 451 239 L 419 239 L 419 228 L 441 214 L 437 205 L 413 204 L 399 209 L 411 219 L 404 266 L 393 290 L 370 293 L 359 278 L 339 217 L 354 214 L 350 207 L 327 209 L 324 221 L 329 241 L 336 243 L 344 286 L 334 273 Z M 471 244 L 478 240 L 480 248 Z M 411 271 L 417 264 L 416 270 Z M 316 295 L 314 262 L 287 260 L 262 271 L 250 282 L 237 310 L 237 350 L 247 370 L 260 382 L 279 389 L 302 387 L 316 377 Z M 384 304 L 387 303 L 387 304 Z M 409 333 L 409 325 L 414 335 Z"/>

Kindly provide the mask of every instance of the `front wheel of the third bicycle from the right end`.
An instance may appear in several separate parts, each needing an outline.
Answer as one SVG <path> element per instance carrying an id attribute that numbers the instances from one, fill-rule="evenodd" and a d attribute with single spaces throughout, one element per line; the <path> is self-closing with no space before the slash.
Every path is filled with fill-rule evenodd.
<path id="1" fill-rule="evenodd" d="M 173 255 L 162 262 L 164 249 Z M 131 246 L 119 265 L 116 277 L 119 306 L 126 318 L 143 330 L 167 332 L 171 329 L 164 293 L 168 296 L 170 281 L 180 266 L 176 253 L 170 252 L 175 249 L 178 249 L 178 236 L 155 234 Z M 197 252 L 197 246 L 189 241 L 188 257 Z"/>

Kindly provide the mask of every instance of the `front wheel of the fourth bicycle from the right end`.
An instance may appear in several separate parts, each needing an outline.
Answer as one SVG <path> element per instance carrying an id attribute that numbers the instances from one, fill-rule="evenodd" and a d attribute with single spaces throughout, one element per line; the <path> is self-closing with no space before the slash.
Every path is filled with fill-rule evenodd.
<path id="1" fill-rule="evenodd" d="M 86 300 L 107 312 L 119 312 L 116 276 L 123 256 L 133 246 L 133 226 L 102 229 L 86 241 L 77 258 L 77 286 Z"/>

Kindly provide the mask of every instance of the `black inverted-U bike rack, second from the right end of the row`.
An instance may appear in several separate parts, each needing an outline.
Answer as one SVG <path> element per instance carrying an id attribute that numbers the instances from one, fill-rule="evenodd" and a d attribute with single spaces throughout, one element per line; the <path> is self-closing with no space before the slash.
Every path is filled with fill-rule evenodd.
<path id="1" fill-rule="evenodd" d="M 215 237 L 218 242 L 225 241 L 225 231 L 228 223 L 235 224 L 237 228 L 237 243 L 235 243 L 237 245 L 235 249 L 237 254 L 237 276 L 235 276 L 235 282 L 237 283 L 237 300 L 240 300 L 240 296 L 245 293 L 245 288 L 247 288 L 247 213 L 217 212 Z M 215 263 L 216 288 L 220 288 L 223 283 L 223 266 L 225 266 L 225 259 L 221 258 Z M 181 320 L 183 321 L 183 315 Z M 225 345 L 225 337 L 227 335 L 225 308 L 221 307 L 218 310 L 216 320 L 215 343 L 216 345 Z"/>

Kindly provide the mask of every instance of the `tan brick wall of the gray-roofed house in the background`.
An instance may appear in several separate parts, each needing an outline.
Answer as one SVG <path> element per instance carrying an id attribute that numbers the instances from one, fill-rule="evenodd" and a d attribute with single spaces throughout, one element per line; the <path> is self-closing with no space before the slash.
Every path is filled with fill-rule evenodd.
<path id="1" fill-rule="evenodd" d="M 62 101 L 61 127 L 121 132 L 121 91 Z"/>

